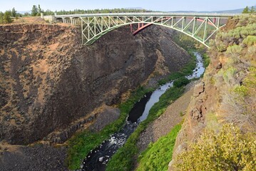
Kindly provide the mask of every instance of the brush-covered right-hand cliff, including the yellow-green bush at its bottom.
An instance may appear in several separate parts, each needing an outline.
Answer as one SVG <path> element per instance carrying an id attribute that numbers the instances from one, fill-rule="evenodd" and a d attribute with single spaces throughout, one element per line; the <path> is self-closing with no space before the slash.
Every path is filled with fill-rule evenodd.
<path id="1" fill-rule="evenodd" d="M 255 170 L 255 19 L 229 19 L 211 43 L 169 170 Z"/>

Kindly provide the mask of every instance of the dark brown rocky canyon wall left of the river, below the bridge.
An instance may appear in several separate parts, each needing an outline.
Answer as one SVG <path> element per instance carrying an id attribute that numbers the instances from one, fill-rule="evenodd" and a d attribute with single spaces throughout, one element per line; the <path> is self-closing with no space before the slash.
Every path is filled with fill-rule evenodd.
<path id="1" fill-rule="evenodd" d="M 81 46 L 80 35 L 73 26 L 0 26 L 0 140 L 63 142 L 95 108 L 190 58 L 156 26 L 137 36 L 118 28 L 92 46 Z"/>

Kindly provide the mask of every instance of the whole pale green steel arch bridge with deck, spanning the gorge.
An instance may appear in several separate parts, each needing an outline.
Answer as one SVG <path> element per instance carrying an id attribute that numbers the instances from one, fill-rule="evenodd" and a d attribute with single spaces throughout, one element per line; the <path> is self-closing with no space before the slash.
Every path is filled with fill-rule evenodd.
<path id="1" fill-rule="evenodd" d="M 152 24 L 173 28 L 203 43 L 209 48 L 210 38 L 223 26 L 228 17 L 241 14 L 203 13 L 110 13 L 55 15 L 63 23 L 81 24 L 82 43 L 91 45 L 104 34 L 130 25 L 133 34 Z M 135 30 L 133 30 L 135 24 Z"/>

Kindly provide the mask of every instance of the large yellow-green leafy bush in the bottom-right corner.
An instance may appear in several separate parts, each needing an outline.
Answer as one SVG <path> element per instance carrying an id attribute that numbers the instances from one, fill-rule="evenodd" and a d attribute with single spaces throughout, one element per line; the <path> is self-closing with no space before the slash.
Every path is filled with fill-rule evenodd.
<path id="1" fill-rule="evenodd" d="M 238 127 L 226 124 L 217 135 L 213 130 L 205 131 L 177 159 L 177 170 L 255 170 L 256 136 L 243 135 Z"/>

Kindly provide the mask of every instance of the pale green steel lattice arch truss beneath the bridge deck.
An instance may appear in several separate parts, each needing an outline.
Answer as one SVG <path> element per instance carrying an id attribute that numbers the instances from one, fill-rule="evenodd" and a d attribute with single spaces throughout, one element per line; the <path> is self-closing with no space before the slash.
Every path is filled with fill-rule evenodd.
<path id="1" fill-rule="evenodd" d="M 129 24 L 155 24 L 173 28 L 208 46 L 210 38 L 225 26 L 221 16 L 87 16 L 80 17 L 82 43 L 91 45 L 105 33 Z M 72 19 L 71 19 L 72 21 Z"/>

